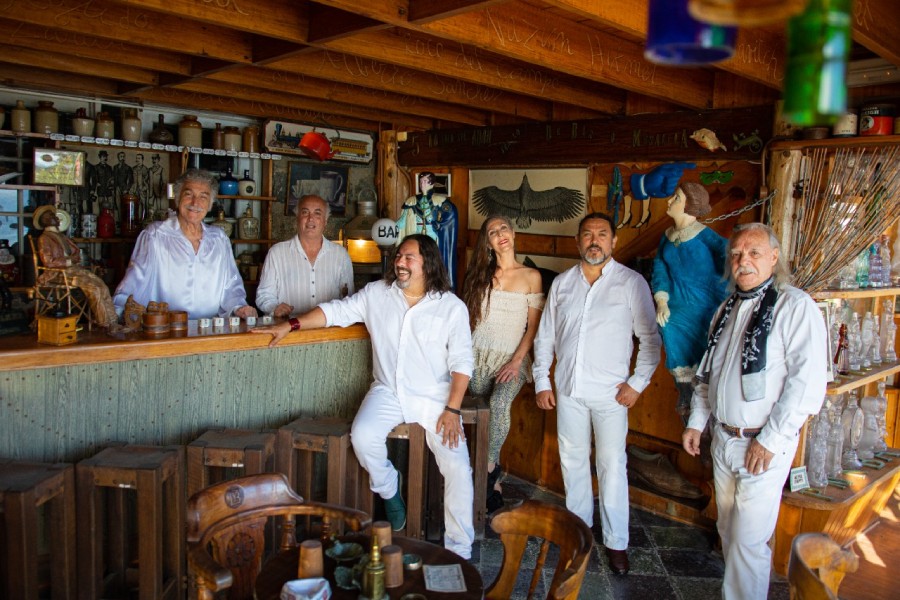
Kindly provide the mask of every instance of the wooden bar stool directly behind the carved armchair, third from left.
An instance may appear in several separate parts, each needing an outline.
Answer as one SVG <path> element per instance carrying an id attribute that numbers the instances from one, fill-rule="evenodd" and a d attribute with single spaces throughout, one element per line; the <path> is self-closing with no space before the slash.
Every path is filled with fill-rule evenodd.
<path id="1" fill-rule="evenodd" d="M 210 469 L 243 469 L 242 475 L 275 470 L 275 432 L 210 429 L 187 446 L 187 496 L 218 483 Z"/>

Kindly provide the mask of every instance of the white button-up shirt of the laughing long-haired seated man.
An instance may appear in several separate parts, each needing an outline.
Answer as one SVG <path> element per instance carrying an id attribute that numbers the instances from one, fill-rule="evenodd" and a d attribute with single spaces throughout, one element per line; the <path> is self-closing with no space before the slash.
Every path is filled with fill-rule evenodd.
<path id="1" fill-rule="evenodd" d="M 408 423 L 433 420 L 450 397 L 451 373 L 472 376 L 466 305 L 451 292 L 429 293 L 409 307 L 396 284 L 375 281 L 319 306 L 326 325 L 364 322 L 372 340 L 373 386 L 391 390 Z"/>

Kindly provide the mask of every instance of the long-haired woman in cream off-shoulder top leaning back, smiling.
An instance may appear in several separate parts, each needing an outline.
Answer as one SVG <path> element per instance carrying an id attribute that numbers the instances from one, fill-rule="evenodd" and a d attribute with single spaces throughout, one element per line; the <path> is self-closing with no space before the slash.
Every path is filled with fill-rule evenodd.
<path id="1" fill-rule="evenodd" d="M 512 401 L 531 374 L 530 351 L 544 307 L 541 274 L 516 260 L 515 239 L 508 218 L 485 219 L 462 292 L 475 352 L 469 391 L 490 395 L 488 512 L 503 506 L 500 448 L 509 433 Z"/>

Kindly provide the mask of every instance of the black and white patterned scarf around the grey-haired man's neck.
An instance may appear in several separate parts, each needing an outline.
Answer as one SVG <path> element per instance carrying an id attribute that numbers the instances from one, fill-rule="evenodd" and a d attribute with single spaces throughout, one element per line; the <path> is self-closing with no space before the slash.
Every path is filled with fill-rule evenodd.
<path id="1" fill-rule="evenodd" d="M 762 400 L 765 397 L 766 342 L 769 339 L 769 332 L 772 330 L 775 302 L 778 300 L 778 290 L 773 285 L 774 280 L 774 277 L 769 277 L 747 292 L 736 290 L 725 301 L 725 307 L 709 335 L 706 352 L 697 368 L 695 383 L 709 383 L 709 366 L 712 362 L 713 350 L 719 343 L 719 336 L 731 316 L 735 303 L 738 300 L 753 300 L 762 296 L 759 304 L 753 309 L 750 323 L 744 332 L 744 348 L 741 351 L 741 389 L 744 392 L 744 400 L 747 402 Z"/>

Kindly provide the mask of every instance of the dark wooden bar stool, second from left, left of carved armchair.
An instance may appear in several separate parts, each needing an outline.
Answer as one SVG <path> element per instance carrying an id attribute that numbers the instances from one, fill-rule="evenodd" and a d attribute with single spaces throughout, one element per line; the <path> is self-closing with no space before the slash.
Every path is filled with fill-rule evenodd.
<path id="1" fill-rule="evenodd" d="M 137 492 L 138 598 L 184 597 L 184 447 L 110 447 L 79 462 L 75 475 L 81 598 L 93 600 L 108 593 L 126 593 L 128 550 L 133 537 L 126 490 Z M 105 536 L 101 488 L 110 488 L 106 494 Z M 104 538 L 108 544 L 106 561 Z"/>

